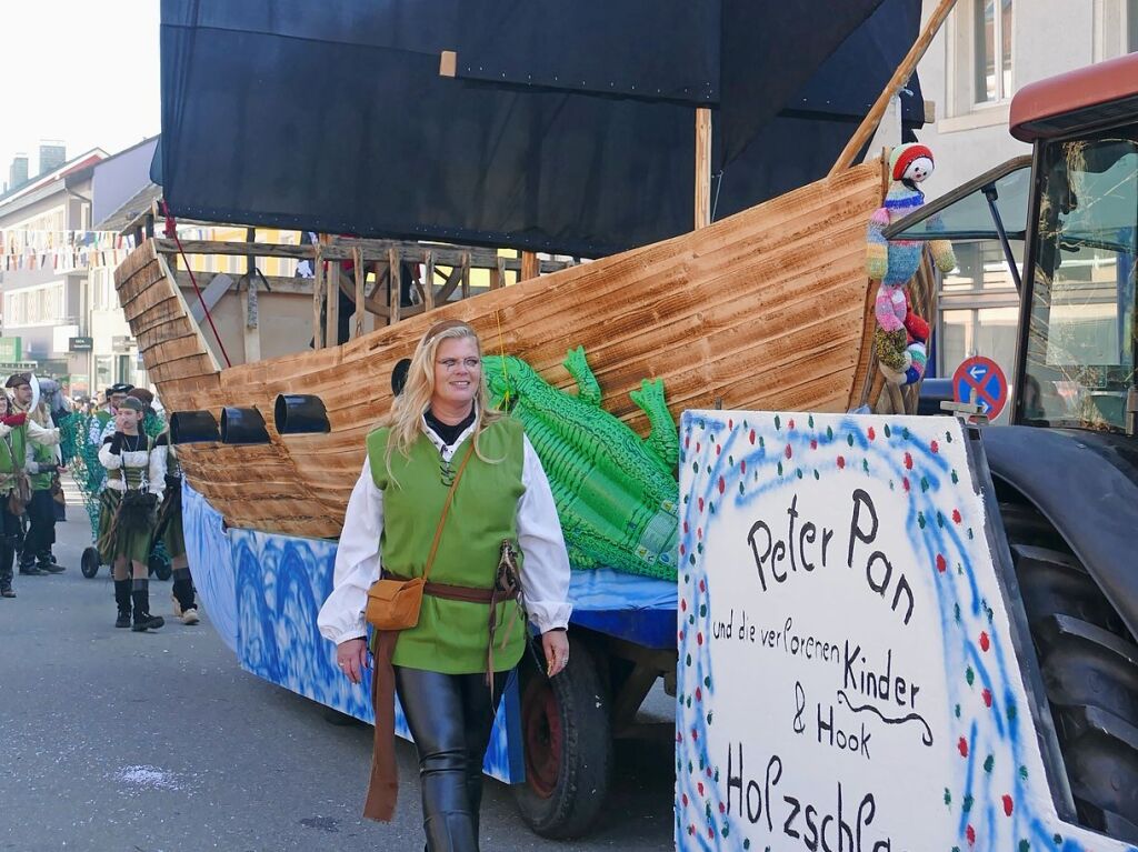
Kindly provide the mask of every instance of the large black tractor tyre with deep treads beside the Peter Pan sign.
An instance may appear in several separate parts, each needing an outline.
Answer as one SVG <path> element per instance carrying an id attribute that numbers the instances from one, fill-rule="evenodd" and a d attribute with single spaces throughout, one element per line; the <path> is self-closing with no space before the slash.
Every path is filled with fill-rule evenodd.
<path id="1" fill-rule="evenodd" d="M 1138 645 L 1062 537 L 1000 505 L 1080 824 L 1138 842 Z"/>

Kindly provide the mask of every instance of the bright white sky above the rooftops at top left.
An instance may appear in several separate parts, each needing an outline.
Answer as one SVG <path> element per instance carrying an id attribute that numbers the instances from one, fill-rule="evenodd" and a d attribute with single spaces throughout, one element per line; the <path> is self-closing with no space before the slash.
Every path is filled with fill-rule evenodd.
<path id="1" fill-rule="evenodd" d="M 71 159 L 115 154 L 159 131 L 159 0 L 0 0 L 0 182 L 17 152 L 39 172 L 40 140 Z"/>

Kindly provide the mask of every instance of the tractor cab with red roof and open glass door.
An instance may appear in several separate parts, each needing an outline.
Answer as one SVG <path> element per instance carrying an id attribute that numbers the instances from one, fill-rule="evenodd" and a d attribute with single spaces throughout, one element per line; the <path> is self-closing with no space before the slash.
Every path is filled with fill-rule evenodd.
<path id="1" fill-rule="evenodd" d="M 998 240 L 1021 296 L 1013 424 L 1133 436 L 1138 56 L 1025 86 L 1012 133 L 1033 154 L 885 231 Z M 1022 280 L 1011 241 L 1025 248 Z"/>

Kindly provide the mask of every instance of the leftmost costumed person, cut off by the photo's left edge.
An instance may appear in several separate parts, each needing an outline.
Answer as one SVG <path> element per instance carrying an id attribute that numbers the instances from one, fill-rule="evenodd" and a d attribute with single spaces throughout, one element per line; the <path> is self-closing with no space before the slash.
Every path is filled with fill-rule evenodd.
<path id="1" fill-rule="evenodd" d="M 32 380 L 27 373 L 9 377 L 5 387 L 26 407 L 32 403 Z M 16 597 L 11 587 L 16 551 L 24 532 L 20 523 L 32 489 L 24 465 L 27 444 L 55 446 L 59 444 L 58 429 L 44 429 L 26 412 L 17 411 L 7 395 L 3 397 L 5 415 L 0 417 L 0 597 Z M 39 573 L 39 572 L 36 572 Z"/>

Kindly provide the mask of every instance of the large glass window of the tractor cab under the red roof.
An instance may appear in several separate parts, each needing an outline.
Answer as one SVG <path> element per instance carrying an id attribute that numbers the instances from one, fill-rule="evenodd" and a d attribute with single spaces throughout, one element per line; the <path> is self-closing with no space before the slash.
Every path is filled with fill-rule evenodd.
<path id="1" fill-rule="evenodd" d="M 1138 125 L 1044 151 L 1020 422 L 1123 431 L 1135 382 Z"/>

